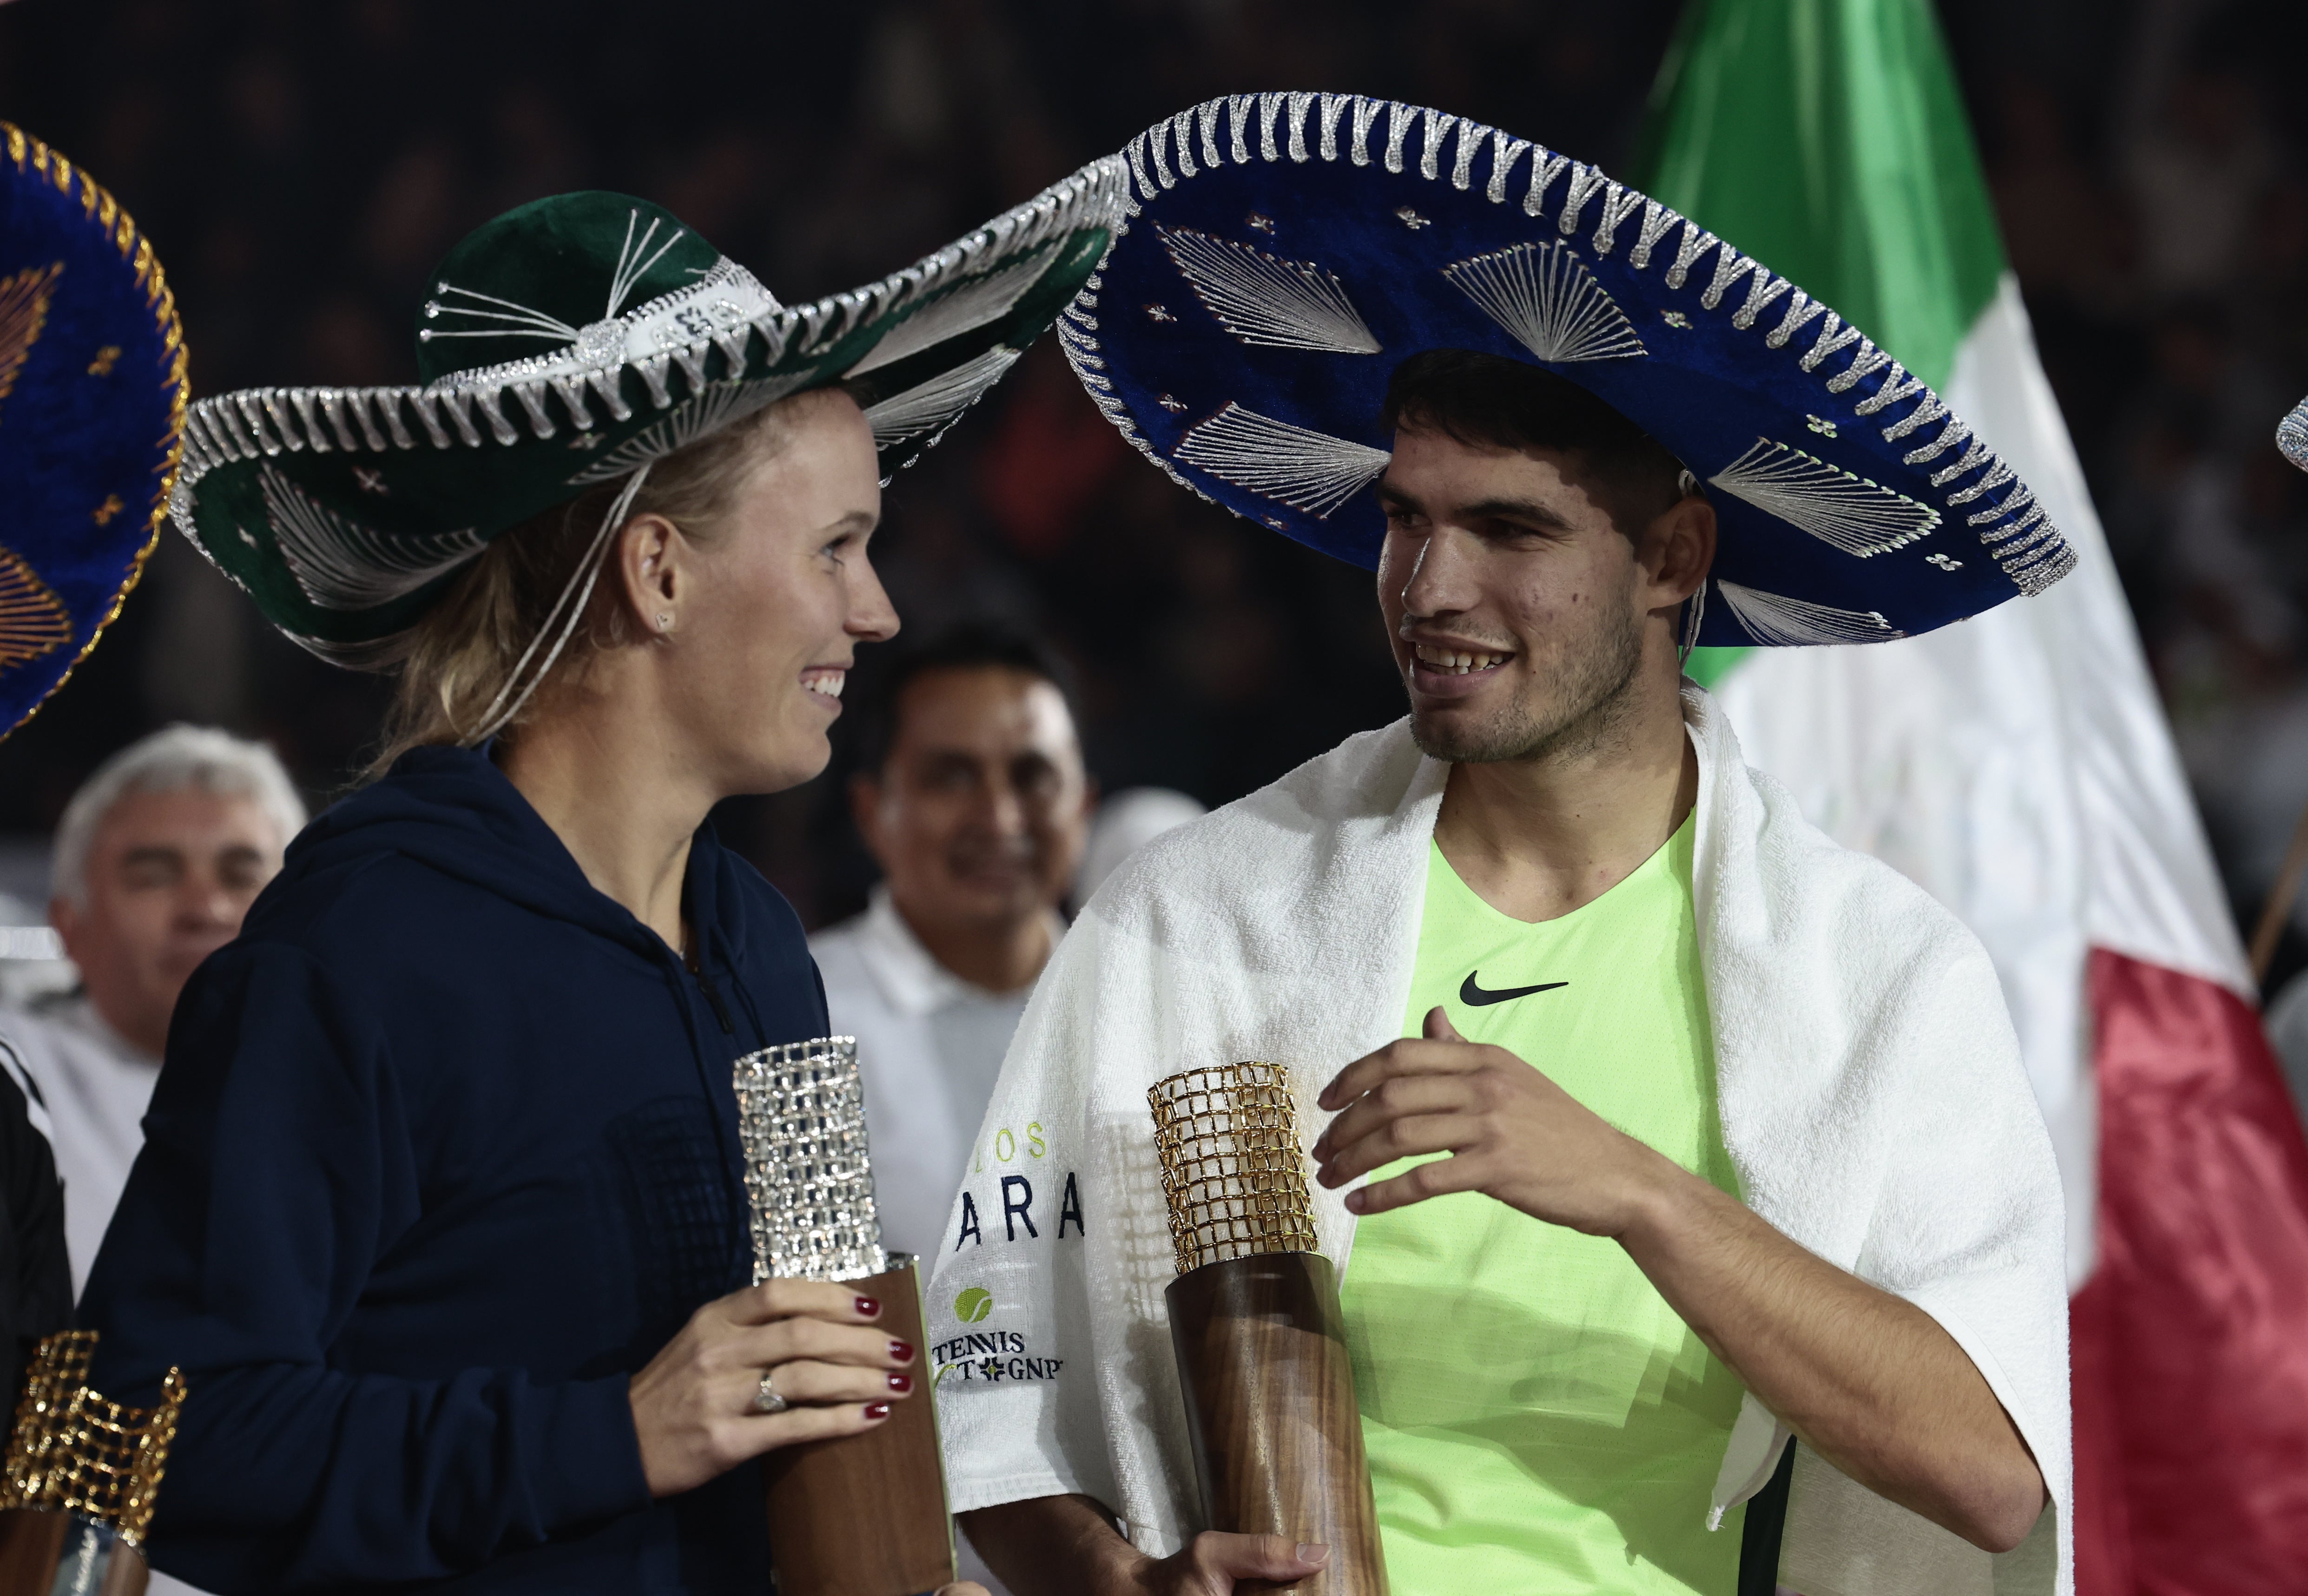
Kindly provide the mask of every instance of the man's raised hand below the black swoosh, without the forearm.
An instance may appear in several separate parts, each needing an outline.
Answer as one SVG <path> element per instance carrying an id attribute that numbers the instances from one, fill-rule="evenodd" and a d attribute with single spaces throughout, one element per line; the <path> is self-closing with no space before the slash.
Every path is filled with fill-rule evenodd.
<path id="1" fill-rule="evenodd" d="M 1442 1192 L 1486 1192 L 1535 1220 L 1620 1236 L 1646 1197 L 1696 1179 L 1613 1130 L 1505 1047 L 1459 1036 L 1426 1010 L 1426 1036 L 1346 1066 L 1318 1102 L 1346 1109 L 1313 1144 L 1316 1179 L 1348 1181 L 1415 1153 L 1449 1153 L 1348 1192 L 1352 1213 L 1385 1213 Z"/>

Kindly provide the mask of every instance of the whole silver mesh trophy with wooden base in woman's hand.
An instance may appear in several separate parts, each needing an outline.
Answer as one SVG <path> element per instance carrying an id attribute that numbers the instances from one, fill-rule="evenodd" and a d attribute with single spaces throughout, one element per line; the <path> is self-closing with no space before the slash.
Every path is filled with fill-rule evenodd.
<path id="1" fill-rule="evenodd" d="M 882 1328 L 921 1347 L 921 1275 L 912 1257 L 882 1252 L 856 1038 L 745 1054 L 736 1102 L 755 1282 L 840 1280 L 879 1298 Z M 875 1430 L 780 1446 L 762 1471 L 785 1596 L 916 1596 L 953 1580 L 937 1405 L 919 1375 Z"/>

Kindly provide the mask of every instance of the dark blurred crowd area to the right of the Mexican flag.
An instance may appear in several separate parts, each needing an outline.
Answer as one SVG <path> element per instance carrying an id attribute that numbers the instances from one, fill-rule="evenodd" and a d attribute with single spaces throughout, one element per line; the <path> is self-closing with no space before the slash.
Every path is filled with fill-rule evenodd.
<path id="1" fill-rule="evenodd" d="M 2308 477 L 2273 445 L 2308 392 L 2287 69 L 2308 12 L 2151 0 L 2112 42 L 2070 37 L 2066 67 L 1985 65 L 1973 111 L 2230 899 L 2257 918 L 2308 803 Z M 2294 932 L 2271 989 L 2303 953 Z"/>

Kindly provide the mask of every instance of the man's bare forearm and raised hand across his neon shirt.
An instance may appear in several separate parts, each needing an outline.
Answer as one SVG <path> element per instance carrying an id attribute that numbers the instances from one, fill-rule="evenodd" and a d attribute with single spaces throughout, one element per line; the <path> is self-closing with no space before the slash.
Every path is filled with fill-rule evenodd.
<path id="1" fill-rule="evenodd" d="M 1452 1153 L 1348 1192 L 1385 1213 L 1489 1192 L 1618 1241 L 1666 1305 L 1807 1446 L 1860 1485 L 2003 1552 L 2036 1525 L 2043 1471 L 1980 1370 L 1927 1312 L 1805 1252 L 1736 1197 L 1623 1135 L 1503 1047 L 1426 1036 L 1322 1089 L 1322 1185 Z"/>

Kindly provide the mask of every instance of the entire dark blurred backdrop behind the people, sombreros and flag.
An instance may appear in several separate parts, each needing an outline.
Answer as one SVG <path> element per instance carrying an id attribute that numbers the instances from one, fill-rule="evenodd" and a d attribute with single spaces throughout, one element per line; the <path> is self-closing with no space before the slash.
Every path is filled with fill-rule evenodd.
<path id="1" fill-rule="evenodd" d="M 196 394 L 413 381 L 434 261 L 579 187 L 672 208 L 773 293 L 879 277 L 1198 99 L 1438 104 L 1625 171 L 1676 0 L 18 0 L 0 115 L 152 238 Z M 2308 7 L 1946 0 L 2045 364 L 2241 913 L 2308 798 Z M 1046 627 L 1108 789 L 1221 803 L 1401 708 L 1362 572 L 1138 461 L 1046 339 L 889 494 L 905 623 Z M 171 720 L 270 738 L 312 798 L 383 683 L 275 637 L 173 530 L 102 648 L 0 745 L 21 856 Z M 835 773 L 725 835 L 805 920 L 865 865 Z M 23 890 L 23 888 L 18 888 Z M 2287 959 L 2292 962 L 2292 959 Z"/>

